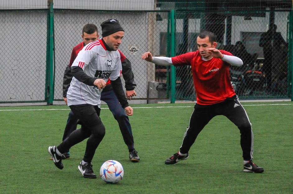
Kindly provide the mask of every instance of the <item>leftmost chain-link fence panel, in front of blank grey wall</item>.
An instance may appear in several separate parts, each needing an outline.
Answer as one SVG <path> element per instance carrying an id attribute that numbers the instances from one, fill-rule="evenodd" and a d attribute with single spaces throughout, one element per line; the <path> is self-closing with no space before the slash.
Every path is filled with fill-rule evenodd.
<path id="1" fill-rule="evenodd" d="M 47 13 L 0 12 L 0 103 L 45 102 Z"/>

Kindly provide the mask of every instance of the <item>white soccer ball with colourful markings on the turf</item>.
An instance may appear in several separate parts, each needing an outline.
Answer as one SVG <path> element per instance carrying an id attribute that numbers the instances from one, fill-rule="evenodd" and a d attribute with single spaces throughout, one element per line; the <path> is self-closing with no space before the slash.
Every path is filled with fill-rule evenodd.
<path id="1" fill-rule="evenodd" d="M 123 166 L 116 160 L 108 160 L 101 166 L 100 176 L 107 183 L 118 183 L 123 175 Z"/>

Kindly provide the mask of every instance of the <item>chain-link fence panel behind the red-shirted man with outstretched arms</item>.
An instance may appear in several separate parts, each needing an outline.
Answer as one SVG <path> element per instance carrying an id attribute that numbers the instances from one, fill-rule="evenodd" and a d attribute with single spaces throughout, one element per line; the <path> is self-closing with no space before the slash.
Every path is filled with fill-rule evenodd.
<path id="1" fill-rule="evenodd" d="M 217 35 L 218 49 L 243 60 L 243 66 L 230 68 L 231 83 L 240 98 L 288 98 L 289 14 L 177 11 L 177 54 L 196 51 L 196 36 L 207 29 Z M 176 98 L 194 99 L 188 66 L 177 67 L 176 80 Z"/>

